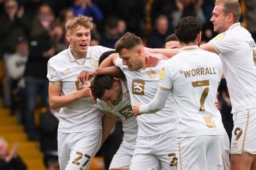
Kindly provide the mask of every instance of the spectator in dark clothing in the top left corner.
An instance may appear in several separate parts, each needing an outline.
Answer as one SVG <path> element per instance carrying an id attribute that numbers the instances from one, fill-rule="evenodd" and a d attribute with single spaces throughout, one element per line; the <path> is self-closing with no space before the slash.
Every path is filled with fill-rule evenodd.
<path id="1" fill-rule="evenodd" d="M 18 6 L 16 0 L 7 0 L 4 3 L 5 13 L 0 17 L 0 59 L 6 64 L 9 55 L 15 53 L 15 41 L 19 36 L 28 37 L 30 32 L 29 20 L 26 19 L 23 6 Z M 3 105 L 10 106 L 10 77 L 6 71 L 5 89 L 3 91 Z"/>

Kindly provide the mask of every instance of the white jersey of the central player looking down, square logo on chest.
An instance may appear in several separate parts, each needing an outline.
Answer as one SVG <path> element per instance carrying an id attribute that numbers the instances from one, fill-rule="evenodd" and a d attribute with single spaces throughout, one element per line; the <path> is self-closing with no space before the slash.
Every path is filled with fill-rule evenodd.
<path id="1" fill-rule="evenodd" d="M 131 106 L 137 103 L 147 104 L 154 99 L 159 84 L 159 71 L 166 61 L 161 61 L 153 68 L 141 68 L 130 71 L 123 66 L 122 59 L 116 60 L 118 66 L 127 79 L 131 97 Z M 175 112 L 173 97 L 170 94 L 163 110 L 154 114 L 143 114 L 137 117 L 138 136 L 154 136 L 175 129 L 177 126 L 177 115 Z"/>

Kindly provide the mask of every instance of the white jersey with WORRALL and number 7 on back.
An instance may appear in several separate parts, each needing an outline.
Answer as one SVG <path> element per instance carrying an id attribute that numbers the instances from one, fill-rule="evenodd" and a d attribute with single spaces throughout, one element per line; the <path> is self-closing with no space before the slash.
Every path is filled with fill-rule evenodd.
<path id="1" fill-rule="evenodd" d="M 198 46 L 186 46 L 168 60 L 159 88 L 172 91 L 179 117 L 178 137 L 223 135 L 221 113 L 215 107 L 221 59 Z"/>

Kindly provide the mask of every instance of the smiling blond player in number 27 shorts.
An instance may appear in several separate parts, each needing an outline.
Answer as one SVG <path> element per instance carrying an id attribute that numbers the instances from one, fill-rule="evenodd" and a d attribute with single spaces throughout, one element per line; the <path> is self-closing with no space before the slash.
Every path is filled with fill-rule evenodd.
<path id="1" fill-rule="evenodd" d="M 90 97 L 90 85 L 81 84 L 80 71 L 98 67 L 98 57 L 111 50 L 89 46 L 93 19 L 77 16 L 66 23 L 68 49 L 49 59 L 49 103 L 61 108 L 58 155 L 61 169 L 88 169 L 102 137 L 102 113 Z M 104 117 L 105 118 L 105 117 Z"/>

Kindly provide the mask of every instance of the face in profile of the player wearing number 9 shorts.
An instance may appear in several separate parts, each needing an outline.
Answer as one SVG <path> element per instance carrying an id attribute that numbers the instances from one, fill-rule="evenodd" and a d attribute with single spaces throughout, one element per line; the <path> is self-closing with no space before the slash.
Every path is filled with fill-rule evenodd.
<path id="1" fill-rule="evenodd" d="M 216 5 L 212 11 L 211 21 L 214 24 L 214 32 L 221 33 L 226 31 L 228 15 L 225 16 L 223 10 L 223 5 Z"/>

